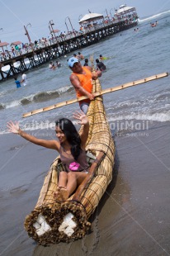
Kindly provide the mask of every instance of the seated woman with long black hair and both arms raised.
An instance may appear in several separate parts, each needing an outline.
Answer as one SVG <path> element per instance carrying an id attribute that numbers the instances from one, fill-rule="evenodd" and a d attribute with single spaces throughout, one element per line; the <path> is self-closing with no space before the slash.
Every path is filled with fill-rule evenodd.
<path id="1" fill-rule="evenodd" d="M 78 124 L 83 125 L 83 132 L 79 135 L 72 121 L 67 118 L 61 118 L 55 122 L 55 133 L 58 140 L 38 139 L 21 130 L 17 122 L 13 123 L 10 121 L 7 123 L 8 131 L 13 134 L 20 135 L 35 145 L 40 145 L 47 149 L 54 149 L 59 152 L 60 159 L 66 169 L 59 173 L 59 186 L 57 187 L 57 191 L 54 192 L 56 201 L 67 200 L 83 182 L 84 178 L 87 177 L 89 169 L 85 151 L 89 121 L 83 111 L 74 112 L 73 117 L 78 121 Z"/>

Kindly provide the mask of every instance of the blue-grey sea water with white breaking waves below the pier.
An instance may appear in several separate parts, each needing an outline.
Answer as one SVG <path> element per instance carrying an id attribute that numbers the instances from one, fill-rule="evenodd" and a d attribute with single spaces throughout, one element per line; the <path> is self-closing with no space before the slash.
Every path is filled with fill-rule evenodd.
<path id="1" fill-rule="evenodd" d="M 156 20 L 158 26 L 151 27 L 149 23 Z M 170 71 L 170 12 L 139 20 L 138 28 L 138 31 L 134 28 L 122 31 L 81 50 L 86 58 L 92 54 L 94 59 L 100 54 L 109 57 L 104 60 L 106 72 L 100 78 L 102 88 Z M 74 110 L 78 110 L 78 103 L 75 103 L 71 107 L 61 107 L 26 119 L 21 117 L 27 111 L 75 97 L 67 66 L 67 59 L 72 55 L 59 59 L 60 69 L 50 70 L 49 64 L 45 64 L 27 72 L 29 84 L 26 87 L 17 89 L 13 79 L 0 84 L 1 133 L 7 132 L 6 123 L 10 120 L 20 121 L 25 129 L 35 130 L 46 127 L 44 123 L 51 123 L 57 117 L 64 115 L 69 118 Z M 162 78 L 106 94 L 104 102 L 108 120 L 170 121 L 169 83 L 169 77 Z"/>

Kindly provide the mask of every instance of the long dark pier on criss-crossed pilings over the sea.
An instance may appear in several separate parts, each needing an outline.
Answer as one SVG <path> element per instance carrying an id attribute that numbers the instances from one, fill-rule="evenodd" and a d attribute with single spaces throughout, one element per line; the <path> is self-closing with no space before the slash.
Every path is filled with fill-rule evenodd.
<path id="1" fill-rule="evenodd" d="M 22 71 L 35 69 L 72 51 L 96 44 L 108 36 L 130 29 L 133 26 L 137 26 L 137 24 L 137 20 L 121 19 L 120 21 L 109 21 L 108 23 L 92 26 L 81 33 L 56 36 L 54 40 L 48 41 L 45 45 L 39 45 L 39 47 L 36 47 L 35 44 L 31 45 L 29 49 L 18 52 L 18 55 L 15 56 L 12 55 L 12 52 L 6 50 L 0 59 L 0 82 L 8 78 L 14 78 Z M 15 65 L 16 63 L 18 64 L 17 66 Z M 9 65 L 9 69 L 4 69 L 7 65 Z"/>

